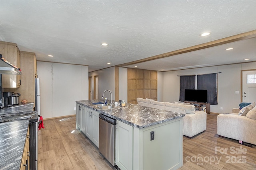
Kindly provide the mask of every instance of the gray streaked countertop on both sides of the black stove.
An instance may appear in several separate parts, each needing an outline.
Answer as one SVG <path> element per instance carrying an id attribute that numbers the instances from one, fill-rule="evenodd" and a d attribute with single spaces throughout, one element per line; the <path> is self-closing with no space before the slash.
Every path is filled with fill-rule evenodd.
<path id="1" fill-rule="evenodd" d="M 34 103 L 0 109 L 0 114 L 32 111 Z M 26 141 L 29 120 L 0 123 L 0 170 L 18 170 Z"/>

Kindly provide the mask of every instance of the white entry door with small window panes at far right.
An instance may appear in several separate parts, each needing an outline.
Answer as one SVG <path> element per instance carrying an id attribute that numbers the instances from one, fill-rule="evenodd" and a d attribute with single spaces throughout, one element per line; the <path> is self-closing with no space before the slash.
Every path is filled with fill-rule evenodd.
<path id="1" fill-rule="evenodd" d="M 256 70 L 242 71 L 242 101 L 256 102 Z"/>

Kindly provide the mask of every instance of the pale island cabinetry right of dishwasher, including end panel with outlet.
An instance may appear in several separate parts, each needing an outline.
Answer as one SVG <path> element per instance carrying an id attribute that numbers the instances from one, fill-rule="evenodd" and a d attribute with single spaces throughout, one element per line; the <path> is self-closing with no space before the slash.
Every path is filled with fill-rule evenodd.
<path id="1" fill-rule="evenodd" d="M 182 118 L 143 129 L 117 121 L 116 165 L 122 170 L 181 167 L 182 126 Z M 153 140 L 151 132 L 154 132 Z"/>

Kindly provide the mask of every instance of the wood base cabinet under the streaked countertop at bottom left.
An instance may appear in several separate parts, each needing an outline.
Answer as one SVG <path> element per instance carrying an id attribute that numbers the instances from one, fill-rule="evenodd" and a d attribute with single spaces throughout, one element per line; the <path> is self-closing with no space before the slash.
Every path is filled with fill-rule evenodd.
<path id="1" fill-rule="evenodd" d="M 30 156 L 30 151 L 29 151 L 29 127 L 28 127 L 28 132 L 26 136 L 26 141 L 23 149 L 23 154 L 22 154 L 22 159 L 21 159 L 21 164 L 20 164 L 20 170 L 29 170 L 29 156 Z"/>

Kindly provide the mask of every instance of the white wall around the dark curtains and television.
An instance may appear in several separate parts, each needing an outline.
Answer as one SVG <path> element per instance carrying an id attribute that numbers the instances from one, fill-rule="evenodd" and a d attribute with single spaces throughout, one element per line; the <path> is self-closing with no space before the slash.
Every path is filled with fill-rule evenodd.
<path id="1" fill-rule="evenodd" d="M 164 72 L 164 102 L 179 101 L 180 78 L 177 75 L 222 72 L 218 74 L 218 105 L 211 105 L 210 109 L 213 113 L 230 113 L 241 102 L 241 70 L 249 69 L 256 69 L 256 62 Z M 235 91 L 239 91 L 239 94 L 235 94 Z"/>

